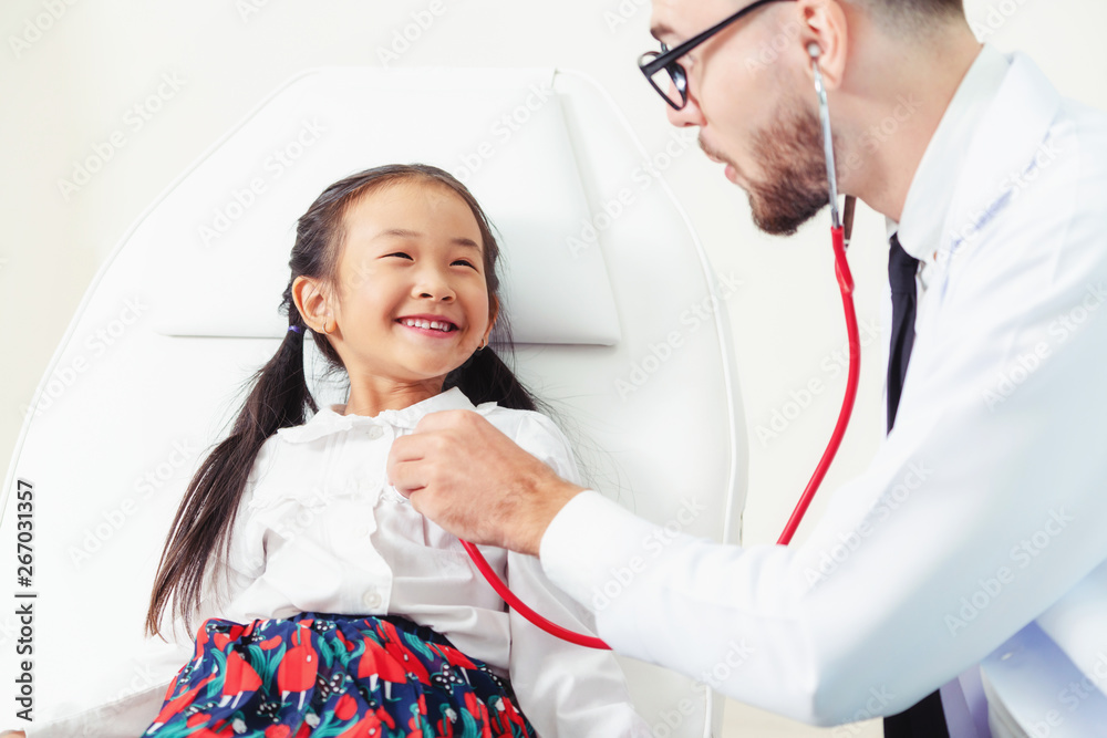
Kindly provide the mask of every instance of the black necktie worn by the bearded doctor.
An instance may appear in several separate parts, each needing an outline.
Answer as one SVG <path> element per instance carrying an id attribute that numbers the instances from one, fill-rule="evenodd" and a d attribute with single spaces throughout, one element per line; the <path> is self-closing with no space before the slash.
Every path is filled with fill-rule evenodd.
<path id="1" fill-rule="evenodd" d="M 903 250 L 899 235 L 891 238 L 888 282 L 892 288 L 892 340 L 888 354 L 888 430 L 896 425 L 896 410 L 903 392 L 907 364 L 914 346 L 915 274 L 919 260 Z M 942 696 L 935 692 L 914 707 L 884 718 L 884 738 L 949 738 Z"/>

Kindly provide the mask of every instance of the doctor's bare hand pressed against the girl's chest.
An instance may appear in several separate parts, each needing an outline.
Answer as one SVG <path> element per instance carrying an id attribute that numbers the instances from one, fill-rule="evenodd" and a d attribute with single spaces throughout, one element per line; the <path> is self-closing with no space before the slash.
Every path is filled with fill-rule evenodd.
<path id="1" fill-rule="evenodd" d="M 387 470 L 412 507 L 451 533 L 531 555 L 554 517 L 584 489 L 472 410 L 424 416 L 414 434 L 393 443 Z"/>

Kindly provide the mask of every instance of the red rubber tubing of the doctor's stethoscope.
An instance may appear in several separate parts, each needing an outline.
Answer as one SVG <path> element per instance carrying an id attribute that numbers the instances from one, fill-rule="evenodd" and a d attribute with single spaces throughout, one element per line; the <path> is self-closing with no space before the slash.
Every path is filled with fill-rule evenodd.
<path id="1" fill-rule="evenodd" d="M 847 218 L 847 221 L 849 220 L 850 219 Z M 793 511 L 792 517 L 784 527 L 784 532 L 780 533 L 780 538 L 777 540 L 777 543 L 780 545 L 787 545 L 792 540 L 793 534 L 795 534 L 796 529 L 799 527 L 799 522 L 804 519 L 804 514 L 807 512 L 807 508 L 811 503 L 811 499 L 815 497 L 815 492 L 818 491 L 819 485 L 823 484 L 823 478 L 826 476 L 827 469 L 830 468 L 830 464 L 834 461 L 834 457 L 838 453 L 838 447 L 841 445 L 842 436 L 846 435 L 846 427 L 849 425 L 849 416 L 853 412 L 853 401 L 857 397 L 857 384 L 861 374 L 861 340 L 857 329 L 857 313 L 853 309 L 853 277 L 849 271 L 849 262 L 846 261 L 845 228 L 841 226 L 831 228 L 830 235 L 834 242 L 835 272 L 838 277 L 838 287 L 841 290 L 842 308 L 846 312 L 846 333 L 849 337 L 849 372 L 846 377 L 846 396 L 842 398 L 841 412 L 838 414 L 838 423 L 835 426 L 834 434 L 830 436 L 830 443 L 827 445 L 826 451 L 823 453 L 823 458 L 819 459 L 819 464 L 815 468 L 815 474 L 811 475 L 810 481 L 807 482 L 807 488 L 799 498 L 796 509 Z M 488 581 L 492 589 L 496 591 L 496 594 L 503 597 L 504 602 L 514 607 L 516 612 L 534 623 L 536 626 L 546 631 L 550 635 L 557 636 L 562 641 L 568 641 L 569 643 L 587 646 L 589 648 L 599 648 L 603 651 L 611 649 L 611 646 L 606 644 L 600 638 L 591 635 L 583 635 L 581 633 L 575 633 L 573 631 L 563 628 L 556 623 L 551 623 L 536 613 L 534 610 L 524 604 L 517 596 L 515 596 L 515 593 L 507 589 L 507 585 L 504 584 L 503 580 L 500 580 L 496 572 L 493 571 L 484 555 L 477 550 L 477 547 L 473 545 L 468 541 L 462 541 L 462 545 L 465 547 L 469 558 L 473 559 L 473 563 L 476 564 L 477 570 Z"/>

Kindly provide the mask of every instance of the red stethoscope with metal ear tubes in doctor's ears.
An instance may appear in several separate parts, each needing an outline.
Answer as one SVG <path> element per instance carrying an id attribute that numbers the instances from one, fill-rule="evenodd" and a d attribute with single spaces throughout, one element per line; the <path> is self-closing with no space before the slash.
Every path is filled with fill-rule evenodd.
<path id="1" fill-rule="evenodd" d="M 830 241 L 834 246 L 835 272 L 838 277 L 838 288 L 841 291 L 842 309 L 846 313 L 846 333 L 849 339 L 849 371 L 846 376 L 846 395 L 842 397 L 841 410 L 838 414 L 838 423 L 830 435 L 830 443 L 827 444 L 823 458 L 819 459 L 815 474 L 804 489 L 804 493 L 788 518 L 780 538 L 777 539 L 779 545 L 787 545 L 792 541 L 793 534 L 804 519 L 807 508 L 815 498 L 827 469 L 830 468 L 838 447 L 841 445 L 842 436 L 846 435 L 846 427 L 849 425 L 849 417 L 853 412 L 853 399 L 857 397 L 857 383 L 861 375 L 861 340 L 857 328 L 857 313 L 853 310 L 853 277 L 849 271 L 849 263 L 846 261 L 846 247 L 849 246 L 849 237 L 853 229 L 853 208 L 857 204 L 855 197 L 846 196 L 845 225 L 838 211 L 838 174 L 834 162 L 834 141 L 830 134 L 830 107 L 827 104 L 826 87 L 823 84 L 823 71 L 819 69 L 819 56 L 821 50 L 818 44 L 811 43 L 807 46 L 807 53 L 811 56 L 811 71 L 815 74 L 815 92 L 819 96 L 819 119 L 823 124 L 823 147 L 827 160 L 827 181 L 830 186 Z M 534 610 L 525 605 L 515 594 L 507 589 L 507 585 L 499 579 L 480 551 L 468 541 L 462 541 L 462 545 L 468 552 L 469 558 L 477 570 L 484 575 L 500 597 L 520 615 L 534 623 L 536 626 L 555 635 L 563 641 L 576 643 L 590 648 L 603 648 L 610 651 L 611 646 L 600 638 L 583 635 L 566 630 L 556 623 L 546 620 Z"/>

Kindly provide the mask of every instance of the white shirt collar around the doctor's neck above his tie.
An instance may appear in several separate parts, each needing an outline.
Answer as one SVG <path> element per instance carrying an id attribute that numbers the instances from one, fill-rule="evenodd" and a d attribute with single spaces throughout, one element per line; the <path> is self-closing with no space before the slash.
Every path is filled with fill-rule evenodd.
<path id="1" fill-rule="evenodd" d="M 953 204 L 953 186 L 961 176 L 973 133 L 995 98 L 1010 65 L 1010 59 L 984 44 L 919 162 L 900 221 L 887 219 L 888 238 L 899 232 L 903 250 L 927 266 L 934 263 L 941 246 L 945 215 Z"/>

